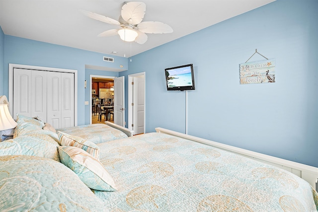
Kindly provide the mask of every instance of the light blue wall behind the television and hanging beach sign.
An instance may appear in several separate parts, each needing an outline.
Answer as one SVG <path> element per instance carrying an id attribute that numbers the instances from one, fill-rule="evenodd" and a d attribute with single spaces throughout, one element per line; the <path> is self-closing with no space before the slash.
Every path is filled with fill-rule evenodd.
<path id="1" fill-rule="evenodd" d="M 133 57 L 120 75 L 146 72 L 146 131 L 185 132 L 185 92 L 166 91 L 164 69 L 193 63 L 189 135 L 318 167 L 317 10 L 277 0 Z M 239 84 L 255 49 L 275 58 L 275 83 Z"/>

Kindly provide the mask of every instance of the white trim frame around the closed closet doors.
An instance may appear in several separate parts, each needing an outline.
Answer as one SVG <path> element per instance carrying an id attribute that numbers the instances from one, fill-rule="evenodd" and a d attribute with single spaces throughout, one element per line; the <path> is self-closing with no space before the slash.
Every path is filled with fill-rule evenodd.
<path id="1" fill-rule="evenodd" d="M 9 64 L 9 81 L 8 81 L 9 101 L 13 100 L 13 69 L 14 68 L 74 73 L 74 126 L 78 126 L 78 71 L 77 70 L 40 67 L 40 66 L 28 66 L 28 65 L 21 65 L 21 64 Z M 12 115 L 13 113 L 12 104 L 9 104 L 9 110 Z"/>

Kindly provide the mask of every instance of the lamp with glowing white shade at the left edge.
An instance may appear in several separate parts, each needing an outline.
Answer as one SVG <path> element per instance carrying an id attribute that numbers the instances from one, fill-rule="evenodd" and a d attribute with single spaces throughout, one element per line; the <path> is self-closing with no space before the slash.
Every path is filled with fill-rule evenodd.
<path id="1" fill-rule="evenodd" d="M 17 123 L 13 120 L 7 104 L 0 104 L 0 141 L 2 135 L 11 135 Z"/>

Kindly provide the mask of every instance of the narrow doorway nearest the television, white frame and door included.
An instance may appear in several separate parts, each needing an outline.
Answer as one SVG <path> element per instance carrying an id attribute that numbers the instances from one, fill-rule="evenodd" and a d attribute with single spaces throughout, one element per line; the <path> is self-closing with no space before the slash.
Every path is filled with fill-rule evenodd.
<path id="1" fill-rule="evenodd" d="M 145 72 L 128 75 L 128 128 L 145 133 Z"/>

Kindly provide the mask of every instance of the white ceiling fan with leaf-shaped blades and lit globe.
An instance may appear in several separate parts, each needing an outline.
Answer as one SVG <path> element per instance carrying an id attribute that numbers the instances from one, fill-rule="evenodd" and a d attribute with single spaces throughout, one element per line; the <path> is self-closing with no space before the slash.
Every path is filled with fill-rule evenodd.
<path id="1" fill-rule="evenodd" d="M 100 37 L 119 35 L 123 41 L 135 41 L 139 44 L 144 44 L 148 40 L 146 33 L 161 34 L 173 32 L 173 29 L 169 25 L 159 21 L 142 22 L 146 12 L 146 4 L 140 1 L 125 1 L 121 8 L 121 16 L 118 21 L 110 17 L 85 10 L 81 10 L 81 12 L 95 20 L 121 27 L 102 32 L 98 35 Z"/>

